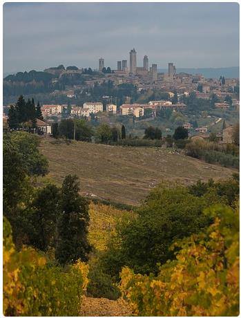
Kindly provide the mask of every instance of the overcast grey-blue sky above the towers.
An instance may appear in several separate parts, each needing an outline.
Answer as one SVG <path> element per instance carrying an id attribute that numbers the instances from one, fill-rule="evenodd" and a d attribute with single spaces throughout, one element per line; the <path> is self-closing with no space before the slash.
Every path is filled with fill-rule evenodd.
<path id="1" fill-rule="evenodd" d="M 5 3 L 3 73 L 117 68 L 137 50 L 167 68 L 239 66 L 238 3 Z"/>

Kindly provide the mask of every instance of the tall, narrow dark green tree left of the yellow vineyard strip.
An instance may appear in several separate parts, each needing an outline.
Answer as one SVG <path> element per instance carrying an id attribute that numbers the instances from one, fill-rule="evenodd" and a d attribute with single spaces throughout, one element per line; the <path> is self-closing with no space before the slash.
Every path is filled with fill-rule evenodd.
<path id="1" fill-rule="evenodd" d="M 88 202 L 79 195 L 77 176 L 66 176 L 61 187 L 59 221 L 57 223 L 56 259 L 61 264 L 74 263 L 77 259 L 87 261 L 90 252 L 88 243 Z"/>

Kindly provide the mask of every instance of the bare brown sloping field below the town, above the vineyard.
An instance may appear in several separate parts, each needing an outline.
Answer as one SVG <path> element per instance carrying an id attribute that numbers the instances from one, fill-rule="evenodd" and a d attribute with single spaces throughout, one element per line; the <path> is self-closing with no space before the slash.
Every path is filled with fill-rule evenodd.
<path id="1" fill-rule="evenodd" d="M 129 205 L 138 205 L 161 180 L 193 183 L 198 179 L 228 178 L 234 171 L 150 147 L 52 144 L 52 139 L 43 138 L 40 150 L 48 158 L 49 176 L 57 184 L 67 174 L 77 174 L 82 194 Z"/>

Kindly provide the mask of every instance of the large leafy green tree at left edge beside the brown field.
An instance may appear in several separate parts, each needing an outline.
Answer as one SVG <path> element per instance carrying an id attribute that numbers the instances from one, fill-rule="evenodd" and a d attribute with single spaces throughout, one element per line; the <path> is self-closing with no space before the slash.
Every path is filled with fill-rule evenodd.
<path id="1" fill-rule="evenodd" d="M 46 174 L 48 162 L 39 153 L 39 138 L 30 133 L 3 135 L 3 215 L 12 225 L 17 246 L 29 243 L 34 189 L 29 176 Z"/>

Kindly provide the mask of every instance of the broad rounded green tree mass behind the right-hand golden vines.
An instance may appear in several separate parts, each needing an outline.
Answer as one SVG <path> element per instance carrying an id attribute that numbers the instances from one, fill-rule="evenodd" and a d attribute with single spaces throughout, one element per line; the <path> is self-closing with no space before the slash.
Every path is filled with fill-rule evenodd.
<path id="1" fill-rule="evenodd" d="M 202 211 L 216 202 L 220 197 L 211 191 L 198 197 L 182 186 L 160 185 L 153 189 L 137 218 L 123 219 L 117 225 L 116 236 L 102 258 L 103 268 L 116 279 L 124 265 L 142 274 L 156 273 L 157 263 L 174 258 L 169 250 L 173 241 L 209 225 Z"/>

